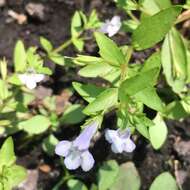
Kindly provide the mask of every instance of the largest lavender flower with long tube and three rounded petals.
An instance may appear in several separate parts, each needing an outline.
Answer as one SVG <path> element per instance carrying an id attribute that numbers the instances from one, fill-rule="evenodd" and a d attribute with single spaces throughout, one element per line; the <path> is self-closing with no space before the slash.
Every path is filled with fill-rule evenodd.
<path id="1" fill-rule="evenodd" d="M 75 170 L 81 166 L 83 171 L 89 171 L 94 165 L 94 158 L 89 152 L 90 141 L 98 128 L 98 123 L 88 125 L 74 141 L 60 141 L 55 153 L 65 157 L 64 164 L 69 170 Z"/>

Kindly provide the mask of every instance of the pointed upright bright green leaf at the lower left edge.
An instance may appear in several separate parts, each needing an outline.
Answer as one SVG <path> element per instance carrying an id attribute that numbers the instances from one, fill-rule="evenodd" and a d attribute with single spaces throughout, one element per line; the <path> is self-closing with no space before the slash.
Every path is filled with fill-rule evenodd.
<path id="1" fill-rule="evenodd" d="M 14 153 L 14 145 L 12 137 L 9 137 L 3 143 L 0 149 L 0 173 L 2 171 L 3 166 L 11 166 L 16 161 L 15 153 Z"/>

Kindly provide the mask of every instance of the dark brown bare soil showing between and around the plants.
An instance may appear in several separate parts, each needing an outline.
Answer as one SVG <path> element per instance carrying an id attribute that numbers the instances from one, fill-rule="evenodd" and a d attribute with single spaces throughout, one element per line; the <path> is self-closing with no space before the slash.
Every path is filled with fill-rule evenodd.
<path id="1" fill-rule="evenodd" d="M 29 2 L 42 3 L 45 6 L 44 18 L 34 18 L 28 16 L 28 22 L 19 25 L 16 21 L 8 23 L 8 10 L 14 10 L 17 13 L 27 14 L 25 6 Z M 176 3 L 179 1 L 175 1 Z M 181 1 L 182 2 L 182 1 Z M 90 12 L 92 8 L 97 8 L 100 17 L 105 18 L 113 14 L 124 15 L 115 9 L 114 3 L 107 0 L 9 0 L 0 8 L 0 57 L 6 57 L 9 60 L 9 65 L 12 67 L 13 48 L 16 41 L 20 38 L 27 46 L 39 46 L 39 37 L 44 36 L 53 42 L 55 46 L 60 45 L 63 41 L 67 40 L 70 36 L 70 19 L 77 9 Z M 129 42 L 129 36 L 121 36 L 115 38 L 119 44 L 126 44 Z M 85 47 L 85 53 L 95 54 L 97 47 L 89 44 Z M 143 52 L 134 54 L 135 59 L 142 60 L 150 54 Z M 64 51 L 65 55 L 75 55 L 76 51 L 73 47 L 69 47 Z M 52 63 L 47 63 L 54 67 Z M 64 76 L 64 77 L 63 77 Z M 61 91 L 71 84 L 75 76 L 68 77 L 64 68 L 57 66 L 55 74 L 52 76 L 51 84 L 49 87 L 53 89 L 54 94 L 60 94 Z M 77 96 L 72 97 L 72 101 L 77 101 Z M 104 126 L 112 126 L 115 124 L 114 114 L 108 116 L 105 120 Z M 139 138 L 137 141 L 137 149 L 133 154 L 114 155 L 110 151 L 109 145 L 105 139 L 101 137 L 94 145 L 92 152 L 97 160 L 96 167 L 88 172 L 83 173 L 77 170 L 74 174 L 90 184 L 95 179 L 95 173 L 98 166 L 105 160 L 116 159 L 119 163 L 132 160 L 141 176 L 142 190 L 147 190 L 153 179 L 163 171 L 171 171 L 173 175 L 180 178 L 180 171 L 185 172 L 186 178 L 183 182 L 184 190 L 189 190 L 188 179 L 190 178 L 190 156 L 182 155 L 174 144 L 180 141 L 190 141 L 190 120 L 183 122 L 167 121 L 169 128 L 169 138 L 163 148 L 159 151 L 154 151 L 152 147 L 146 142 L 144 138 Z M 59 138 L 74 137 L 78 134 L 78 127 L 61 128 L 61 133 L 55 135 Z M 15 139 L 19 136 L 15 135 Z M 18 138 L 17 138 L 18 139 Z M 27 147 L 20 150 L 16 148 L 18 155 L 18 163 L 27 167 L 28 169 L 39 169 L 38 189 L 51 190 L 52 187 L 60 180 L 60 174 L 63 173 L 59 165 L 59 158 L 48 157 L 39 146 L 40 140 L 32 141 Z M 17 146 L 18 145 L 18 146 Z M 16 147 L 19 147 L 19 141 L 16 141 Z M 98 148 L 98 147 L 101 147 Z M 186 153 L 185 153 L 186 154 Z M 42 166 L 46 166 L 48 171 L 43 170 Z M 63 187 L 62 189 L 66 189 Z"/>

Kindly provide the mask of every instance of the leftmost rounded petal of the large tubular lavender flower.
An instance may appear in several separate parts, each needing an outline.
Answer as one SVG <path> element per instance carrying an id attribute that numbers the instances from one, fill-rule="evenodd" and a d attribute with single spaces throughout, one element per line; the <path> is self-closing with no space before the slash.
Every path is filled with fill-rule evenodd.
<path id="1" fill-rule="evenodd" d="M 72 143 L 70 141 L 60 141 L 55 147 L 55 153 L 59 156 L 67 156 L 71 149 Z"/>

